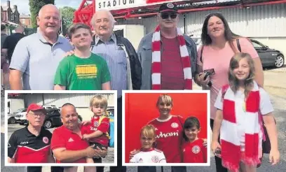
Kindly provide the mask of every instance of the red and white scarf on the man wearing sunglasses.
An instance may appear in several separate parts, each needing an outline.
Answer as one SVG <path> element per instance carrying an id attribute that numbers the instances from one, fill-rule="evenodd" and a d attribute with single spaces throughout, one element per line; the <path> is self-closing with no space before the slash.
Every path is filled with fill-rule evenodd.
<path id="1" fill-rule="evenodd" d="M 184 89 L 192 89 L 191 60 L 186 49 L 186 42 L 182 32 L 177 28 L 179 40 L 179 52 L 184 71 Z M 161 89 L 161 33 L 157 26 L 152 38 L 152 66 L 151 66 L 152 89 Z"/>

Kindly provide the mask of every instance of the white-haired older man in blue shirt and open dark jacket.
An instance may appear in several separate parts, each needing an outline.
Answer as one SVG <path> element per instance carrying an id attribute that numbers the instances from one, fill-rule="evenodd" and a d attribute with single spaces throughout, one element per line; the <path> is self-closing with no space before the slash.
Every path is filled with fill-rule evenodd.
<path id="1" fill-rule="evenodd" d="M 118 120 L 118 166 L 111 167 L 110 172 L 126 171 L 122 166 L 122 90 L 140 89 L 142 69 L 137 53 L 132 44 L 122 36 L 113 32 L 114 17 L 108 10 L 100 10 L 93 15 L 92 24 L 95 28 L 95 43 L 91 51 L 102 56 L 111 74 L 111 89 L 117 90 L 117 120 Z M 97 171 L 102 171 L 98 168 Z"/>

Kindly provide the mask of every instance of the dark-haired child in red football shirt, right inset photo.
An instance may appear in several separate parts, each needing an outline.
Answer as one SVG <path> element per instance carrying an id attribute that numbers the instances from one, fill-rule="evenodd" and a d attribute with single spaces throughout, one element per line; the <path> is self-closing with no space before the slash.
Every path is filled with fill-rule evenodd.
<path id="1" fill-rule="evenodd" d="M 200 122 L 197 117 L 188 117 L 184 122 L 182 146 L 184 163 L 206 163 L 207 148 L 203 145 L 203 140 L 198 138 L 200 132 Z"/>

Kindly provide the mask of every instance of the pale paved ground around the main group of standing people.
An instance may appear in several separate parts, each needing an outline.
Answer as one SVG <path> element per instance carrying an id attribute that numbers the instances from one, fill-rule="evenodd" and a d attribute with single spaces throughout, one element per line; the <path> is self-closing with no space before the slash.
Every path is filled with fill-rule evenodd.
<path id="1" fill-rule="evenodd" d="M 271 166 L 267 162 L 268 156 L 264 155 L 264 161 L 262 166 L 257 169 L 258 172 L 282 172 L 286 171 L 286 66 L 282 69 L 266 69 L 264 71 L 265 89 L 271 95 L 271 100 L 275 109 L 275 119 L 278 127 L 278 143 L 281 155 L 281 160 L 278 166 Z M 194 89 L 200 89 L 195 87 Z M 1 97 L 1 109 L 4 109 Z M 2 172 L 26 172 L 25 167 L 4 167 L 4 113 L 1 110 L 1 171 Z M 13 125 L 11 125 L 11 128 Z M 9 135 L 9 134 L 8 134 Z M 44 167 L 43 172 L 50 172 L 49 167 Z M 79 172 L 83 169 L 79 168 Z M 104 171 L 109 171 L 106 167 Z M 128 167 L 128 172 L 136 172 L 136 167 Z M 158 172 L 161 172 L 161 168 L 157 168 Z M 164 172 L 171 172 L 170 167 L 164 167 Z M 215 171 L 214 157 L 210 159 L 210 166 L 207 167 L 187 167 L 188 172 L 213 172 Z"/>

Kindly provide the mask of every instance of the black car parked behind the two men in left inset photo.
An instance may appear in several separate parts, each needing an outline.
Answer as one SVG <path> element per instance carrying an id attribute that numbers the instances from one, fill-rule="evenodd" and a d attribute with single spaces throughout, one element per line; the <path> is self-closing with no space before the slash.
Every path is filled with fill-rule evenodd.
<path id="1" fill-rule="evenodd" d="M 43 127 L 50 129 L 52 127 L 59 127 L 62 125 L 62 120 L 60 119 L 60 109 L 58 108 L 49 108 L 47 109 L 48 113 L 43 122 Z M 81 122 L 83 118 L 79 115 L 78 122 Z"/>

